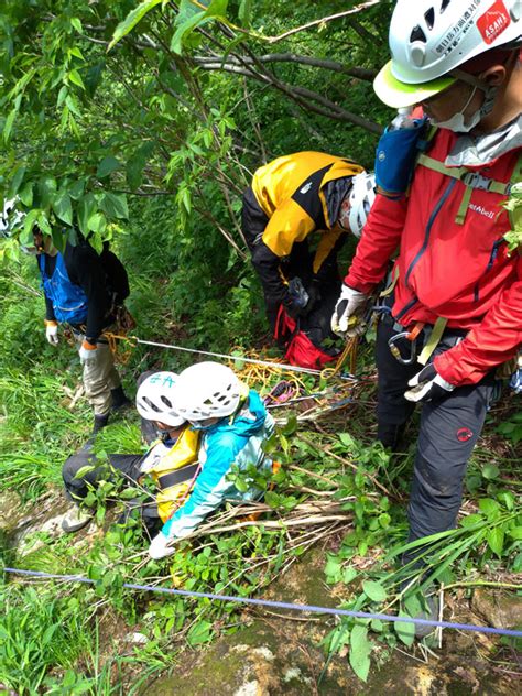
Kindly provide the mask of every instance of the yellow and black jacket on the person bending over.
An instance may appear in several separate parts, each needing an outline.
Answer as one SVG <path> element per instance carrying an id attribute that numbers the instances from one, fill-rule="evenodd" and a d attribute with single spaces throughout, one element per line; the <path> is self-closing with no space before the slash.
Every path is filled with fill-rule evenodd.
<path id="1" fill-rule="evenodd" d="M 325 195 L 326 185 L 336 180 L 355 176 L 362 167 L 350 160 L 323 152 L 296 152 L 278 157 L 260 167 L 252 180 L 255 200 L 269 218 L 262 235 L 247 241 L 252 261 L 265 291 L 284 294 L 281 260 L 289 257 L 295 242 L 304 241 L 313 231 L 322 238 L 313 261 L 316 274 L 344 233 Z M 331 216 L 333 217 L 333 216 Z"/>

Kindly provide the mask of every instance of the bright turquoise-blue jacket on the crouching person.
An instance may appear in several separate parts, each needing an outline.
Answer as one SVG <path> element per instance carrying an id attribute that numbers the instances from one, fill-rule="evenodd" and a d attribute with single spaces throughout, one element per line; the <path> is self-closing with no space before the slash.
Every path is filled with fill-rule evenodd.
<path id="1" fill-rule="evenodd" d="M 187 536 L 225 500 L 259 499 L 262 491 L 253 483 L 242 492 L 227 477 L 235 465 L 240 471 L 246 471 L 249 465 L 270 471 L 272 460 L 262 445 L 273 432 L 273 418 L 254 391 L 249 392 L 246 405 L 231 423 L 229 418 L 221 418 L 203 431 L 198 455 L 202 472 L 185 503 L 163 525 L 162 533 L 170 539 Z"/>

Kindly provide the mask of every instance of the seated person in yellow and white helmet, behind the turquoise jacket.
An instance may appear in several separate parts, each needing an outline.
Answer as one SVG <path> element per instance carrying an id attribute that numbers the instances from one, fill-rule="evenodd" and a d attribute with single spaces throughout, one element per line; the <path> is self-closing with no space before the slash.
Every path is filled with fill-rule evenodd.
<path id="1" fill-rule="evenodd" d="M 150 535 L 183 504 L 199 474 L 199 433 L 172 407 L 176 380 L 174 372 L 148 373 L 139 380 L 135 405 L 143 436 L 151 445 L 145 455 L 108 455 L 107 466 L 96 459 L 90 445 L 65 461 L 65 494 L 74 503 L 62 521 L 65 532 L 77 532 L 89 523 L 94 511 L 80 505 L 100 480 L 123 480 L 124 486 L 139 487 L 145 476 L 152 478 L 155 498 L 145 494 L 131 500 L 124 515 L 126 520 L 138 511 Z"/>

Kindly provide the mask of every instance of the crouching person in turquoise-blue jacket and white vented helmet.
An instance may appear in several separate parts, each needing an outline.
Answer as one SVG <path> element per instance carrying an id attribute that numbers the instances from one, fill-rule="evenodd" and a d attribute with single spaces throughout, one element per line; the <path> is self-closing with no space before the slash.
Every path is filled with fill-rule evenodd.
<path id="1" fill-rule="evenodd" d="M 225 500 L 258 500 L 263 491 L 253 485 L 240 491 L 228 475 L 232 467 L 246 471 L 254 465 L 271 471 L 272 460 L 263 443 L 273 434 L 274 422 L 255 391 L 233 370 L 218 362 L 193 365 L 178 376 L 173 407 L 194 429 L 200 431 L 200 474 L 184 504 L 152 540 L 149 554 L 163 558 L 174 553 L 176 540 L 188 536 Z"/>

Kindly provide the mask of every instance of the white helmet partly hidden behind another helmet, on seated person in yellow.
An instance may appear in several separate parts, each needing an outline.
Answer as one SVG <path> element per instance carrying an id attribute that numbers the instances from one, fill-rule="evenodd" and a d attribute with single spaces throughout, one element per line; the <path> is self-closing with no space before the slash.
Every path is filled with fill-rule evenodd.
<path id="1" fill-rule="evenodd" d="M 145 421 L 160 421 L 165 425 L 178 427 L 185 423 L 173 407 L 174 387 L 178 380 L 175 372 L 154 372 L 139 387 L 135 407 Z"/>

